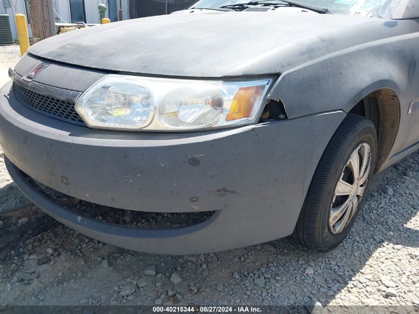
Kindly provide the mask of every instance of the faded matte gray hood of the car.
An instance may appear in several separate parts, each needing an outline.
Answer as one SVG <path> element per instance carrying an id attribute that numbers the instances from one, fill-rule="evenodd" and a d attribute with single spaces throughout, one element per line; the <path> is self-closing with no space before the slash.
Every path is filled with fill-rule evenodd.
<path id="1" fill-rule="evenodd" d="M 173 14 L 72 31 L 33 45 L 29 53 L 118 72 L 258 75 L 280 73 L 396 29 L 384 24 L 378 18 L 276 11 Z"/>

